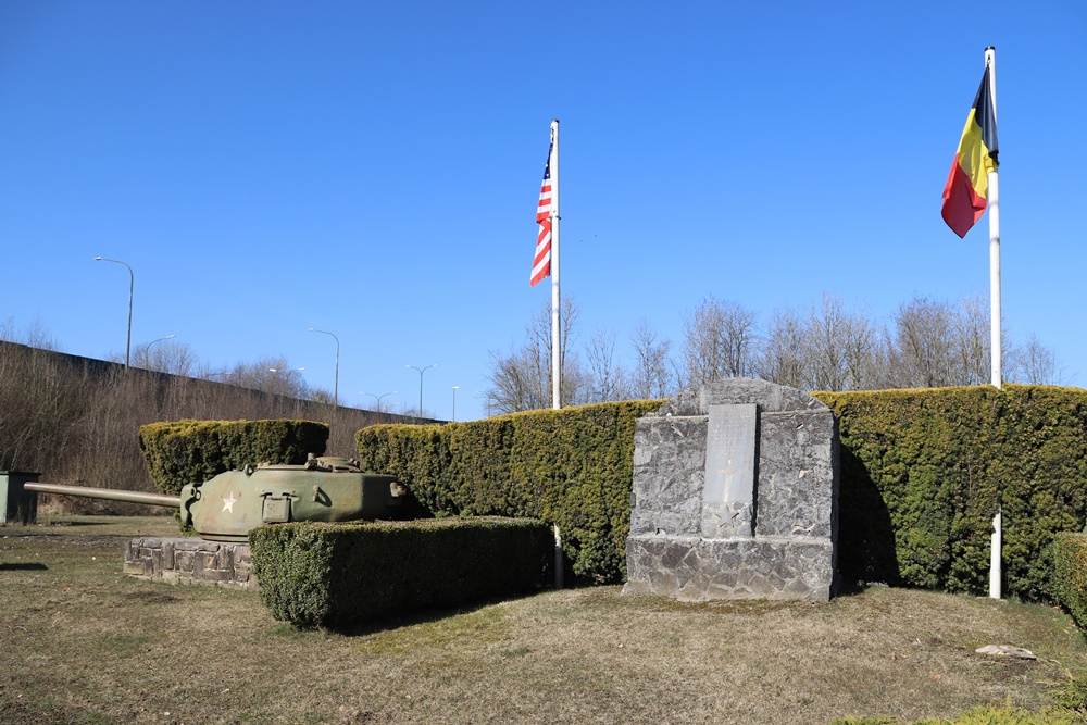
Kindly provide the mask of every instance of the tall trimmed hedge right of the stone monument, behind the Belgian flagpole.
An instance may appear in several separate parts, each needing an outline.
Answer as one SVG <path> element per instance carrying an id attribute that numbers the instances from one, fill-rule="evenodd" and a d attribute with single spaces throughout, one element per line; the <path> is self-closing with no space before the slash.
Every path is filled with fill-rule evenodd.
<path id="1" fill-rule="evenodd" d="M 1087 515 L 1087 390 L 813 395 L 839 417 L 846 577 L 984 592 L 1000 505 L 1005 590 L 1052 598 L 1053 535 Z"/>

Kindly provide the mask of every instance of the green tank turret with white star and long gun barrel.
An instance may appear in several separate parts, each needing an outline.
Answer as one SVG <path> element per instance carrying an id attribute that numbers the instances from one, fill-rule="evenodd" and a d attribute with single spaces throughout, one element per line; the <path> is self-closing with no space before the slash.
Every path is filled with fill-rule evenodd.
<path id="1" fill-rule="evenodd" d="M 24 488 L 178 509 L 183 525 L 212 541 L 246 541 L 264 524 L 391 518 L 407 490 L 393 476 L 363 473 L 351 459 L 312 453 L 302 465 L 262 463 L 221 473 L 185 485 L 180 496 L 58 484 Z"/>

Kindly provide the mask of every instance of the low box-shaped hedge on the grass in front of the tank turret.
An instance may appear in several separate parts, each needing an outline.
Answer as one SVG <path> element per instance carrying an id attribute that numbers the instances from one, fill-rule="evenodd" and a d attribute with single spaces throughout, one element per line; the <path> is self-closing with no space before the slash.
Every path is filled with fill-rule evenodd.
<path id="1" fill-rule="evenodd" d="M 518 595 L 544 584 L 554 539 L 526 518 L 293 523 L 249 533 L 261 600 L 298 626 Z"/>

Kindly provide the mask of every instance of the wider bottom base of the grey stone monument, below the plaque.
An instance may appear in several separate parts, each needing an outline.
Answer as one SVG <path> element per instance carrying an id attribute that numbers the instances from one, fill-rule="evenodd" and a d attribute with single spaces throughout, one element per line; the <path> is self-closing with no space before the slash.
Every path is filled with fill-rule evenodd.
<path id="1" fill-rule="evenodd" d="M 632 536 L 625 595 L 679 601 L 828 601 L 835 588 L 829 539 Z"/>

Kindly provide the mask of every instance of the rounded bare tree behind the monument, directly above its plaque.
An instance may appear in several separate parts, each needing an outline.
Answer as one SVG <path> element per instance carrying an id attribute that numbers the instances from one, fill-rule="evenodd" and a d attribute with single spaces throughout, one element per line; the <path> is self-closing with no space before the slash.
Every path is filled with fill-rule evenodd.
<path id="1" fill-rule="evenodd" d="M 712 295 L 685 313 L 683 366 L 685 386 L 752 374 L 755 315 L 737 302 Z"/>

